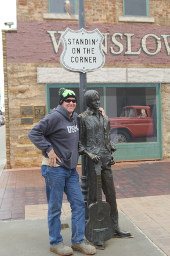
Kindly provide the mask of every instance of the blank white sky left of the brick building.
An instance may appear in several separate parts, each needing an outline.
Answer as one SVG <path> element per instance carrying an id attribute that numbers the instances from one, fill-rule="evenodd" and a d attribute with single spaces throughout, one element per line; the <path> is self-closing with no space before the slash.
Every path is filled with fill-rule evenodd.
<path id="1" fill-rule="evenodd" d="M 0 0 L 0 30 L 6 30 L 5 22 L 14 22 L 11 28 L 16 28 L 16 0 Z M 4 108 L 4 82 L 3 82 L 3 55 L 2 55 L 2 32 L 0 31 L 0 90 L 1 90 L 1 110 Z"/>

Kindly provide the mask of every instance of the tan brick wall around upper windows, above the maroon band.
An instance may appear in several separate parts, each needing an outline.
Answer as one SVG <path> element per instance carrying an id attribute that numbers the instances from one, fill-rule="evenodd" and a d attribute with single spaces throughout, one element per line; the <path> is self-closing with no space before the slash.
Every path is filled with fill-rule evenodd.
<path id="1" fill-rule="evenodd" d="M 49 13 L 48 0 L 16 0 L 16 7 L 18 20 L 44 20 L 42 14 Z M 169 9 L 167 0 L 150 0 L 150 17 L 155 18 L 154 25 L 170 24 Z M 87 23 L 118 23 L 118 16 L 123 15 L 123 0 L 85 0 L 85 13 Z"/>

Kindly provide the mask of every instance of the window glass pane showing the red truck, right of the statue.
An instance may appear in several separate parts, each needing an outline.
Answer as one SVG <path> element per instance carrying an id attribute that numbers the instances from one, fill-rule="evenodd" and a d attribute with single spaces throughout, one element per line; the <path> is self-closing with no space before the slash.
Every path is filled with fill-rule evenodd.
<path id="1" fill-rule="evenodd" d="M 156 88 L 106 88 L 114 143 L 157 142 Z"/>

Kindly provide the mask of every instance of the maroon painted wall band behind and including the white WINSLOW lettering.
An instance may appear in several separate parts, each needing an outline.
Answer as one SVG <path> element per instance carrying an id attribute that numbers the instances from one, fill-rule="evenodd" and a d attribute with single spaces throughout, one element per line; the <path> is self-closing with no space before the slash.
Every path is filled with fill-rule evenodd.
<path id="1" fill-rule="evenodd" d="M 10 63 L 59 63 L 61 35 L 78 23 L 18 21 L 17 32 L 6 34 L 7 61 Z M 96 27 L 103 34 L 105 64 L 168 64 L 170 56 L 169 26 L 143 24 L 87 23 L 86 30 Z M 81 42 L 75 42 L 76 48 Z M 92 43 L 92 42 L 91 42 Z M 94 48 L 94 44 L 91 44 Z M 15 49 L 15 50 L 14 50 Z M 87 52 L 89 56 L 90 53 Z M 72 59 L 72 61 L 77 61 Z M 94 59 L 95 63 L 95 59 Z"/>

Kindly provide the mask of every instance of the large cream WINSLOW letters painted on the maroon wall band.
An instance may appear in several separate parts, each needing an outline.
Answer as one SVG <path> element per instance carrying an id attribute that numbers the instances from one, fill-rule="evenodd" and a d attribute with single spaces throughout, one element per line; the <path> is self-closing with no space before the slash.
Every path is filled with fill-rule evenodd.
<path id="1" fill-rule="evenodd" d="M 61 40 L 59 39 L 57 42 L 56 34 L 62 35 L 64 31 L 46 31 L 49 34 L 52 46 L 54 49 L 54 53 L 58 53 L 58 49 L 61 45 Z M 115 32 L 114 34 L 110 35 L 108 32 L 101 32 L 104 36 L 104 43 L 102 44 L 102 49 L 105 55 L 111 53 L 111 55 L 130 55 L 130 56 L 138 56 L 143 51 L 148 56 L 157 55 L 162 47 L 165 48 L 167 56 L 170 55 L 170 46 L 168 39 L 170 39 L 170 35 L 161 34 L 146 34 L 140 40 L 138 40 L 138 49 L 133 49 L 133 41 L 135 40 L 134 33 L 124 33 Z M 162 40 L 161 40 L 162 39 Z M 113 46 L 108 47 L 108 40 L 111 40 Z M 126 47 L 124 46 L 123 42 L 126 42 Z"/>

